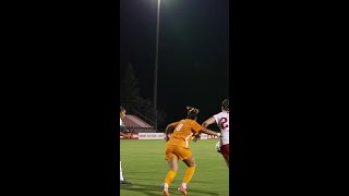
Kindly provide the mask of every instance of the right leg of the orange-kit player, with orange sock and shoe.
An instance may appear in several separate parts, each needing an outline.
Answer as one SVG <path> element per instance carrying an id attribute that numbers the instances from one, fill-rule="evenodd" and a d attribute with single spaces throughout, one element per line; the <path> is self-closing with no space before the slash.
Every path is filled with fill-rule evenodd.
<path id="1" fill-rule="evenodd" d="M 178 188 L 178 191 L 180 191 L 182 194 L 186 195 L 186 185 L 188 183 L 191 181 L 192 176 L 194 175 L 195 172 L 195 168 L 196 168 L 196 163 L 195 163 L 195 159 L 191 152 L 190 149 L 181 149 L 181 158 L 183 160 L 183 162 L 186 164 L 186 171 L 185 171 L 185 175 L 183 177 L 183 182 L 181 187 Z"/>

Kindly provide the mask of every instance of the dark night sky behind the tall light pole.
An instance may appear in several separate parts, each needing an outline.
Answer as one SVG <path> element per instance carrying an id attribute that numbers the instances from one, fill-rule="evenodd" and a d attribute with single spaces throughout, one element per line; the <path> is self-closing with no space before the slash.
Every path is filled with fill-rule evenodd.
<path id="1" fill-rule="evenodd" d="M 120 1 L 120 71 L 132 63 L 153 100 L 157 0 Z M 158 108 L 169 123 L 197 107 L 198 122 L 229 98 L 229 0 L 161 0 Z"/>

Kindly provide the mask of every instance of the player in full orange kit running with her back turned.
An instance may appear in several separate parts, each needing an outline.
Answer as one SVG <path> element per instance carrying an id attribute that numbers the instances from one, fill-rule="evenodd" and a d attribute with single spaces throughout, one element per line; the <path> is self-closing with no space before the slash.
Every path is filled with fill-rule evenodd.
<path id="1" fill-rule="evenodd" d="M 179 192 L 186 195 L 186 184 L 192 179 L 195 171 L 195 160 L 192 156 L 192 151 L 189 148 L 189 144 L 192 140 L 192 136 L 204 132 L 209 135 L 220 136 L 219 133 L 207 130 L 201 126 L 197 122 L 198 110 L 192 107 L 186 107 L 186 119 L 179 122 L 173 122 L 166 127 L 166 156 L 165 159 L 168 162 L 170 171 L 167 173 L 165 182 L 163 184 L 163 193 L 165 196 L 169 195 L 168 187 L 174 179 L 178 170 L 178 160 L 182 160 L 186 166 L 186 172 L 183 179 L 182 186 L 178 188 Z M 169 138 L 169 133 L 173 132 Z"/>

